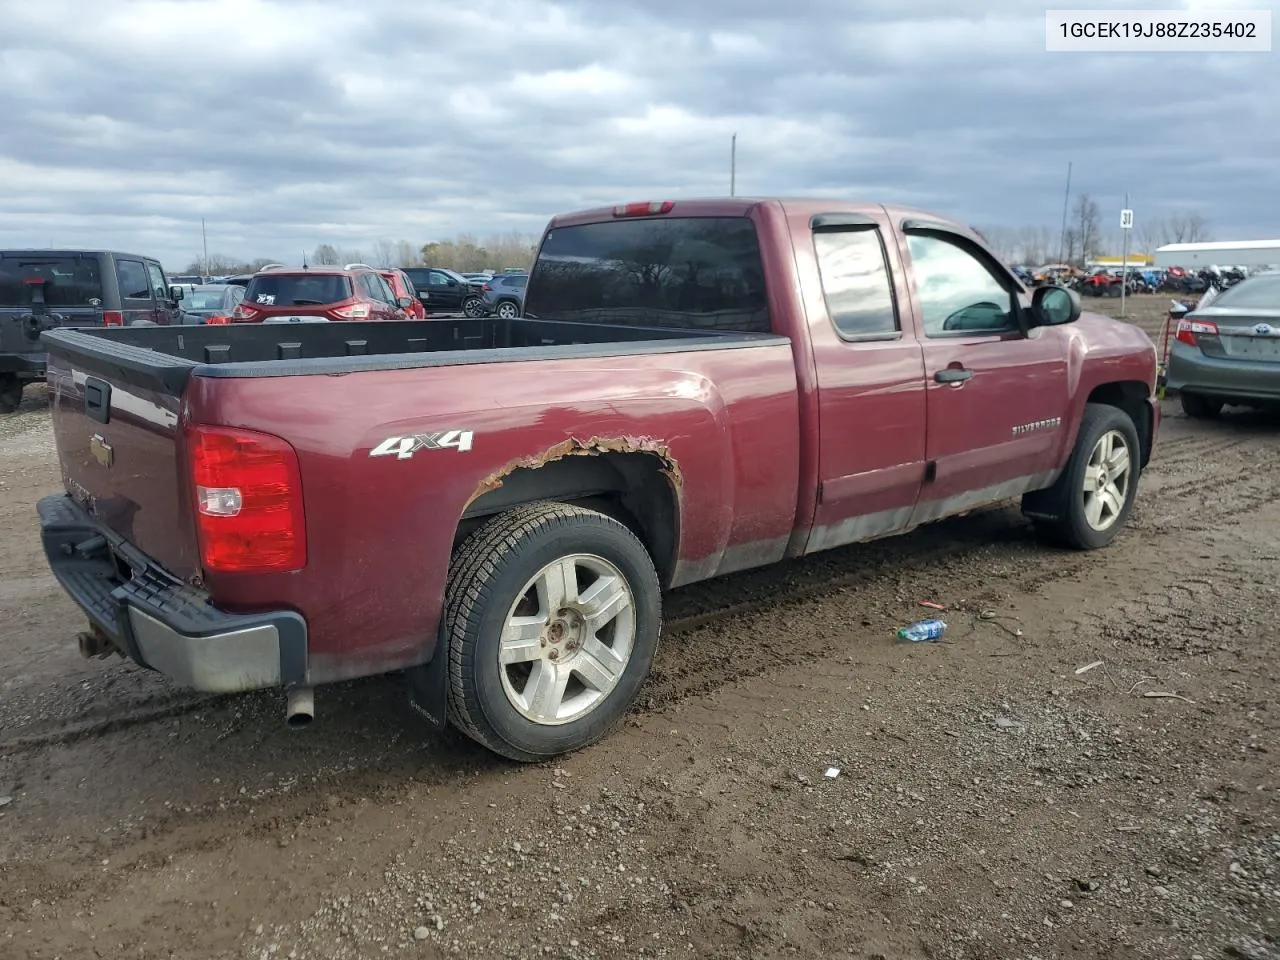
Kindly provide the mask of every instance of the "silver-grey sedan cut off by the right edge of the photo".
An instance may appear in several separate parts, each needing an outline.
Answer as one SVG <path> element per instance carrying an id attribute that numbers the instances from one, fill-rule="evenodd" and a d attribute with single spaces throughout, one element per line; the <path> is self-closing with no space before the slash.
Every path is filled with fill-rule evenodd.
<path id="1" fill-rule="evenodd" d="M 1167 378 L 1190 417 L 1216 417 L 1229 403 L 1280 407 L 1280 274 L 1251 276 L 1184 314 Z"/>

